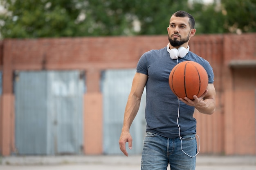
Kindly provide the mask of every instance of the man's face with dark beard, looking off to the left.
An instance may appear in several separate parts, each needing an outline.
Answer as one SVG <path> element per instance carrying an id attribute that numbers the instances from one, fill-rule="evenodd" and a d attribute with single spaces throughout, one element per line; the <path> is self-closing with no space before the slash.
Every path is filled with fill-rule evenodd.
<path id="1" fill-rule="evenodd" d="M 190 38 L 190 30 L 188 17 L 172 16 L 170 25 L 167 28 L 170 44 L 173 47 L 178 47 L 188 42 Z"/>

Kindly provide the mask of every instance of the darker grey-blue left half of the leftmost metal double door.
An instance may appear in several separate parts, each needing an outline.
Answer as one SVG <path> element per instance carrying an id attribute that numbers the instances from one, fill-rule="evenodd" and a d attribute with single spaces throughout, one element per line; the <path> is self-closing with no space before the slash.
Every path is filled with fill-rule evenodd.
<path id="1" fill-rule="evenodd" d="M 16 148 L 18 154 L 47 154 L 47 73 L 15 76 Z"/>

